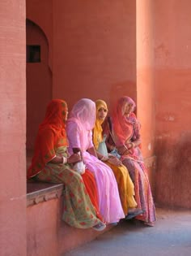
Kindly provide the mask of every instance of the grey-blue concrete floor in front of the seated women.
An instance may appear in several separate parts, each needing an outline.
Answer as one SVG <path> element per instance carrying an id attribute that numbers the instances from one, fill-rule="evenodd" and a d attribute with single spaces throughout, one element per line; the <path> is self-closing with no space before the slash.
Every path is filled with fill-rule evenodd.
<path id="1" fill-rule="evenodd" d="M 65 256 L 191 256 L 191 210 L 157 208 L 149 228 L 134 220 L 121 222 L 95 241 Z"/>

